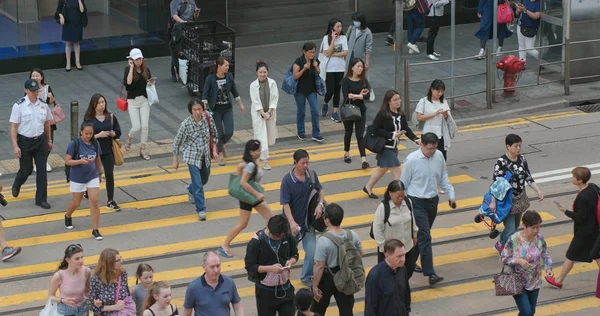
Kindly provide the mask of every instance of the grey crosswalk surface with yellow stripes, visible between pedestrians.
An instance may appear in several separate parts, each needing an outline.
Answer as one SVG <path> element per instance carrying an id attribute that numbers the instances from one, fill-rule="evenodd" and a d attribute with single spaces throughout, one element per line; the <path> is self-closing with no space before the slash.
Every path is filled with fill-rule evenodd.
<path id="1" fill-rule="evenodd" d="M 542 115 L 536 119 L 557 117 Z M 510 124 L 520 122 L 514 120 Z M 461 132 L 509 126 L 504 124 L 507 123 L 470 125 L 461 128 Z M 404 144 L 406 146 L 400 146 L 401 157 L 416 149 L 412 144 Z M 344 208 L 342 227 L 354 230 L 361 238 L 365 252 L 363 262 L 368 273 L 377 263 L 378 249 L 375 241 L 369 237 L 369 229 L 380 199 L 369 199 L 361 188 L 374 168 L 360 170 L 359 163 L 345 164 L 342 160 L 343 143 L 340 142 L 306 147 L 300 145 L 294 143 L 290 148 L 271 151 L 270 165 L 273 170 L 265 173 L 262 181 L 269 207 L 274 214 L 281 213 L 281 178 L 291 168 L 294 150 L 306 149 L 310 154 L 311 168 L 317 171 L 324 187 L 325 200 Z M 353 145 L 350 154 L 359 156 L 356 146 Z M 368 159 L 374 161 L 374 155 L 369 153 Z M 90 237 L 90 212 L 86 202 L 73 214 L 74 230 L 64 230 L 62 221 L 66 204 L 62 202 L 70 198 L 70 192 L 60 172 L 50 174 L 48 196 L 49 201 L 56 198 L 62 204 L 54 203 L 49 211 L 37 214 L 12 211 L 33 204 L 33 184 L 24 185 L 18 198 L 7 196 L 9 207 L 6 209 L 12 210 L 6 214 L 8 216 L 5 215 L 3 225 L 11 236 L 10 245 L 23 247 L 23 252 L 0 265 L 0 316 L 38 315 L 47 300 L 50 277 L 56 271 L 65 247 L 72 243 L 83 246 L 85 264 L 88 266 L 96 265 L 102 249 L 119 250 L 130 286 L 135 284 L 134 272 L 139 263 L 152 265 L 155 270 L 154 281 L 169 282 L 173 288 L 172 303 L 179 307 L 181 313 L 185 288 L 204 273 L 202 255 L 222 244 L 239 217 L 239 204 L 229 196 L 227 181 L 229 174 L 236 172 L 241 159 L 239 156 L 229 157 L 226 166 L 217 166 L 216 163 L 212 166 L 210 181 L 205 187 L 207 219 L 203 222 L 198 221 L 194 206 L 189 204 L 184 190 L 189 182 L 189 173 L 183 166 L 179 171 L 174 170 L 168 164 L 169 160 L 156 159 L 159 161 L 157 166 L 126 166 L 116 172 L 115 185 L 122 190 L 123 196 L 123 200 L 119 201 L 122 211 L 101 207 L 100 230 L 104 236 L 101 242 Z M 572 167 L 547 171 L 535 168 L 537 173 L 532 175 L 545 190 L 543 201 L 538 201 L 537 197 L 530 194 L 531 209 L 538 211 L 542 217 L 541 232 L 546 237 L 555 274 L 560 272 L 565 250 L 573 234 L 572 221 L 556 210 L 553 201 L 558 200 L 563 205 L 573 201 L 577 192 L 573 187 L 563 184 L 570 179 Z M 600 163 L 591 161 L 587 167 L 594 175 L 600 172 Z M 440 195 L 438 215 L 431 230 L 434 265 L 446 280 L 430 287 L 425 277 L 415 273 L 411 279 L 412 311 L 419 315 L 516 315 L 512 297 L 494 295 L 492 278 L 502 266 L 492 248 L 493 240 L 488 238 L 489 228 L 473 221 L 491 182 L 485 176 L 491 172 L 488 170 L 482 174 L 465 164 L 449 166 L 449 173 L 450 182 L 456 189 L 458 208 L 452 209 L 448 205 L 448 197 Z M 391 175 L 386 175 L 373 188 L 373 193 L 382 197 L 390 180 Z M 559 187 L 559 183 L 563 185 Z M 9 187 L 6 182 L 4 186 Z M 565 190 L 565 187 L 568 189 Z M 150 189 L 155 192 L 148 192 Z M 104 194 L 102 187 L 101 200 Z M 254 212 L 248 228 L 233 240 L 231 252 L 234 257 L 221 258 L 221 273 L 231 276 L 236 282 L 246 315 L 256 315 L 256 306 L 254 285 L 247 279 L 244 269 L 245 249 L 254 232 L 263 227 L 264 220 Z M 502 225 L 499 228 L 501 230 Z M 291 271 L 291 282 L 296 289 L 305 287 L 300 282 L 305 254 L 302 247 L 299 248 L 300 259 Z M 600 300 L 593 293 L 597 272 L 595 263 L 576 263 L 569 274 L 570 287 L 555 290 L 542 285 L 536 315 L 597 313 Z M 364 295 L 364 291 L 355 295 L 355 315 L 364 312 Z M 335 302 L 332 302 L 325 315 L 338 315 Z M 435 310 L 434 305 L 440 306 L 437 303 L 447 304 L 448 308 Z"/>

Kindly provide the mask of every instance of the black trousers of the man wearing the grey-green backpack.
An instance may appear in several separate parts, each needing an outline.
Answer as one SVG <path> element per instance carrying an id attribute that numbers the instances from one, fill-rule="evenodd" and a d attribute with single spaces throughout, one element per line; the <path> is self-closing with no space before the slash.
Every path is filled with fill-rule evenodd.
<path id="1" fill-rule="evenodd" d="M 354 315 L 352 312 L 354 308 L 354 295 L 346 295 L 337 290 L 333 283 L 333 275 L 329 272 L 329 269 L 323 271 L 323 277 L 321 278 L 321 282 L 319 282 L 319 290 L 323 293 L 323 297 L 318 302 L 313 299 L 312 311 L 314 313 L 325 315 L 333 296 L 335 297 L 340 316 Z"/>

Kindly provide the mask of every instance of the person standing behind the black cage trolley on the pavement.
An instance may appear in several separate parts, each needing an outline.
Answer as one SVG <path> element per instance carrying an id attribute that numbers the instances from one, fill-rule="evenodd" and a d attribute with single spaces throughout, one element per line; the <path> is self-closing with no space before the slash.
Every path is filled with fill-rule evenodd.
<path id="1" fill-rule="evenodd" d="M 196 0 L 172 0 L 170 4 L 170 19 L 167 35 L 169 48 L 171 50 L 171 79 L 177 82 L 179 74 L 179 53 L 181 52 L 181 23 L 198 20 L 200 8 L 196 6 Z"/>

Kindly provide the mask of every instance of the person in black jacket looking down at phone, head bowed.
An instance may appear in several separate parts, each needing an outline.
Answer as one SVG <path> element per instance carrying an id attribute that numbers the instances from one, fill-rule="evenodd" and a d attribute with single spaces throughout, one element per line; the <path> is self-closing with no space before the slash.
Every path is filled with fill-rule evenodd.
<path id="1" fill-rule="evenodd" d="M 252 236 L 244 261 L 248 279 L 255 282 L 257 314 L 294 315 L 290 269 L 298 261 L 298 247 L 284 215 L 271 217 L 267 228 Z"/>

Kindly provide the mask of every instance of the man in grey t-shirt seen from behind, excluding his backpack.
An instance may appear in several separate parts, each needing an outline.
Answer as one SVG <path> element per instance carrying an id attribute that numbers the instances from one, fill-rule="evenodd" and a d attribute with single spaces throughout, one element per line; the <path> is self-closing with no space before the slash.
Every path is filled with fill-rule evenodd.
<path id="1" fill-rule="evenodd" d="M 358 235 L 351 230 L 344 230 L 340 227 L 344 219 L 344 209 L 341 206 L 331 203 L 325 208 L 323 214 L 327 231 L 342 240 L 348 240 L 348 234 L 352 235 L 352 240 L 360 255 L 364 255 L 362 244 Z M 340 316 L 352 316 L 354 307 L 354 295 L 346 295 L 336 288 L 333 283 L 333 274 L 340 270 L 338 263 L 338 247 L 328 237 L 321 236 L 317 240 L 315 249 L 315 275 L 313 281 L 313 312 L 325 315 L 331 297 L 335 301 L 340 312 Z"/>

